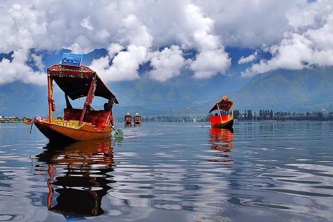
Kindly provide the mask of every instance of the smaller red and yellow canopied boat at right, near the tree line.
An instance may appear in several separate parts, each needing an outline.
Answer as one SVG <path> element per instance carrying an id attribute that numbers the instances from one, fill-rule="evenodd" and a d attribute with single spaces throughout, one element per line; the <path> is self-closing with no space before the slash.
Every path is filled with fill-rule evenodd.
<path id="1" fill-rule="evenodd" d="M 213 111 L 216 111 L 214 115 Z M 209 121 L 213 127 L 232 128 L 234 124 L 234 102 L 223 96 L 209 111 Z"/>

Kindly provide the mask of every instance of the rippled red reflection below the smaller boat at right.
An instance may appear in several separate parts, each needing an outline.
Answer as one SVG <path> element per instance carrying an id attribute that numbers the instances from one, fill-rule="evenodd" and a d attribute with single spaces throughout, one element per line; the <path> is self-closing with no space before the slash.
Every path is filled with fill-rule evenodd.
<path id="1" fill-rule="evenodd" d="M 214 154 L 214 157 L 218 159 L 209 160 L 209 162 L 218 162 L 225 167 L 232 167 L 230 162 L 233 161 L 231 151 L 234 148 L 234 130 L 227 128 L 211 127 L 209 143 L 212 150 L 221 151 L 218 154 Z"/>

